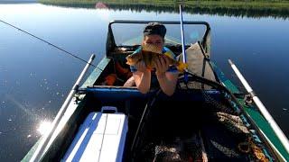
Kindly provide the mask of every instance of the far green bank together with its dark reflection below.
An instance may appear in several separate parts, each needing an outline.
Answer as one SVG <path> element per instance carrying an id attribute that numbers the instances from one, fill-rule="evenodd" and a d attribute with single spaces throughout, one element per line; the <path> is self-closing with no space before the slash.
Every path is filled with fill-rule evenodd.
<path id="1" fill-rule="evenodd" d="M 98 0 L 38 0 L 38 3 L 72 8 L 96 8 Z M 135 12 L 167 12 L 179 13 L 179 4 L 172 1 L 154 1 L 149 3 L 147 0 L 140 0 L 134 3 L 132 0 L 104 2 L 109 10 L 121 11 L 132 10 Z M 247 17 L 289 17 L 289 1 L 267 2 L 256 1 L 190 1 L 184 4 L 184 11 L 188 14 L 218 14 L 228 16 L 247 16 Z"/>

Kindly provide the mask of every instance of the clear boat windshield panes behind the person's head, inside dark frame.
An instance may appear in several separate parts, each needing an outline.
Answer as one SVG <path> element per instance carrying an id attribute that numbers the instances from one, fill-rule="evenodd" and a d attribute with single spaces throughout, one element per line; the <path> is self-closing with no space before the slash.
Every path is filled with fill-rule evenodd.
<path id="1" fill-rule="evenodd" d="M 117 47 L 140 45 L 146 23 L 113 23 L 111 25 Z M 181 25 L 164 24 L 167 31 L 165 45 L 182 45 Z M 190 45 L 201 41 L 207 28 L 204 24 L 183 24 L 184 42 Z"/>

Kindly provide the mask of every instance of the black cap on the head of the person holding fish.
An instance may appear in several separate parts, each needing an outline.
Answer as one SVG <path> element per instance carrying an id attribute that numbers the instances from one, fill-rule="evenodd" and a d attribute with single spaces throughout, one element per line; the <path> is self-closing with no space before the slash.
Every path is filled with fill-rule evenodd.
<path id="1" fill-rule="evenodd" d="M 148 23 L 144 27 L 144 36 L 146 35 L 160 35 L 164 38 L 166 28 L 162 23 Z"/>

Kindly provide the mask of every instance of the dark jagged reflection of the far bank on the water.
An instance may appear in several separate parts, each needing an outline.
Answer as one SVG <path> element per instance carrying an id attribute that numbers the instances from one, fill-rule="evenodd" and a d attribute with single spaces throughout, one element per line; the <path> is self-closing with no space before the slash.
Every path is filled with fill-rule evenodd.
<path id="1" fill-rule="evenodd" d="M 44 3 L 48 4 L 48 3 Z M 51 4 L 56 6 L 72 7 L 72 8 L 96 8 L 96 4 Z M 133 12 L 155 12 L 155 13 L 171 13 L 178 14 L 178 4 L 160 5 L 160 4 L 106 4 L 107 9 L 114 11 L 127 11 Z M 221 6 L 185 6 L 187 14 L 217 14 L 234 17 L 273 17 L 283 18 L 284 20 L 289 17 L 288 8 L 268 8 L 268 7 L 239 7 L 239 8 L 227 8 Z"/>

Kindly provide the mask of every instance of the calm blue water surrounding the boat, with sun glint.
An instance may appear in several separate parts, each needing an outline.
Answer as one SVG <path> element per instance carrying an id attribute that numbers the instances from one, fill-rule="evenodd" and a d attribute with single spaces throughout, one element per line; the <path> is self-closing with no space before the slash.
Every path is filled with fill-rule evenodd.
<path id="1" fill-rule="evenodd" d="M 236 63 L 275 121 L 288 135 L 289 21 L 213 14 L 184 14 L 210 23 L 211 56 L 233 81 Z M 0 19 L 32 32 L 80 58 L 105 51 L 107 24 L 114 19 L 172 20 L 179 14 L 0 4 Z M 84 63 L 0 23 L 0 159 L 19 161 L 52 121 Z"/>

